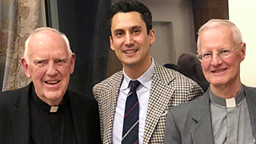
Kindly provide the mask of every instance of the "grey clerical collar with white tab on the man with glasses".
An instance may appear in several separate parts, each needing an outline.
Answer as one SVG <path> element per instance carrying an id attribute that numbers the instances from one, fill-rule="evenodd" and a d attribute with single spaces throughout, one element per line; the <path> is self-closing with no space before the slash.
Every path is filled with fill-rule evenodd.
<path id="1" fill-rule="evenodd" d="M 210 89 L 209 89 L 209 94 L 210 94 L 210 102 L 216 106 L 221 106 L 223 108 L 240 106 L 242 101 L 245 98 L 245 94 L 243 92 L 242 86 L 241 86 L 241 90 L 238 92 L 238 94 L 234 98 L 229 98 L 229 99 L 220 98 L 217 95 L 215 95 Z"/>

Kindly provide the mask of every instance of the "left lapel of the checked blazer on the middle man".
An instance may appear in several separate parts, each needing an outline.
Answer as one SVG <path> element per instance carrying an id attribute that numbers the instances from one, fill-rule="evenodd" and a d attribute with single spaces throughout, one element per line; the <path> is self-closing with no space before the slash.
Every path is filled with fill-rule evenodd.
<path id="1" fill-rule="evenodd" d="M 118 73 L 117 77 L 113 79 L 113 82 L 110 84 L 110 88 L 106 90 L 102 94 L 102 98 L 105 100 L 102 101 L 102 105 L 106 106 L 104 110 L 102 110 L 103 113 L 103 121 L 106 123 L 104 128 L 104 138 L 103 142 L 106 143 L 112 143 L 112 132 L 113 132 L 113 122 L 114 122 L 114 113 L 115 113 L 115 108 L 117 106 L 117 101 L 118 101 L 118 93 L 119 93 L 119 88 L 122 83 L 122 72 Z"/>

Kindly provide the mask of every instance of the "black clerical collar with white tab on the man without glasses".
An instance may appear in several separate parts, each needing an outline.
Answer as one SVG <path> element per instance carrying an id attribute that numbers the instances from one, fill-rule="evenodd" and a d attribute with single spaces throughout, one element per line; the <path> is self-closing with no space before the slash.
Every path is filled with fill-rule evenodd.
<path id="1" fill-rule="evenodd" d="M 38 95 L 35 93 L 34 86 L 32 90 L 32 101 L 36 106 L 46 111 L 47 113 L 56 113 L 58 110 L 62 109 L 62 107 L 66 103 L 66 93 L 63 96 L 63 101 L 58 106 L 49 106 L 46 102 L 43 102 L 42 99 L 38 98 Z"/>

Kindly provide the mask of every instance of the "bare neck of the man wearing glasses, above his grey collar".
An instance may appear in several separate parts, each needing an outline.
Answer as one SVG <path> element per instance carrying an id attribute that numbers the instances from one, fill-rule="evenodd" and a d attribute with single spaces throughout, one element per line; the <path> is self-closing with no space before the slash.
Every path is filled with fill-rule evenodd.
<path id="1" fill-rule="evenodd" d="M 235 82 L 231 85 L 214 86 L 210 84 L 210 90 L 220 98 L 234 98 L 241 90 L 241 82 Z"/>

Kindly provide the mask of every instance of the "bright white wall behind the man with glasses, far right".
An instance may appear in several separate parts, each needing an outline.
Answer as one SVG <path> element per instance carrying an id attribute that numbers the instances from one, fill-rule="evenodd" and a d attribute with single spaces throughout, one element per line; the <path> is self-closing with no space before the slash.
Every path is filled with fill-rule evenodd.
<path id="1" fill-rule="evenodd" d="M 230 21 L 242 32 L 246 42 L 246 58 L 241 64 L 241 80 L 246 86 L 256 86 L 256 1 L 229 0 Z"/>

